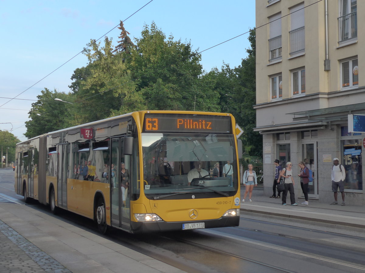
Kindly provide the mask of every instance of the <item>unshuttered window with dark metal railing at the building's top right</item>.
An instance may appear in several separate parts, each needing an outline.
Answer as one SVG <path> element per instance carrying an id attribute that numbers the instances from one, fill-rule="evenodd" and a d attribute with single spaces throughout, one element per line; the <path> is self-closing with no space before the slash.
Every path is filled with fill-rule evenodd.
<path id="1" fill-rule="evenodd" d="M 338 17 L 339 40 L 344 41 L 357 37 L 357 1 L 340 0 Z"/>

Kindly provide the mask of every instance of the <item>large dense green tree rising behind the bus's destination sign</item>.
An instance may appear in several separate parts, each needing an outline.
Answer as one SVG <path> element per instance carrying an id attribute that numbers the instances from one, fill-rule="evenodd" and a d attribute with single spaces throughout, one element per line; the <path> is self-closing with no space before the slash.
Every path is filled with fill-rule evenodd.
<path id="1" fill-rule="evenodd" d="M 130 68 L 136 79 L 145 106 L 150 110 L 212 111 L 218 94 L 206 96 L 201 82 L 201 55 L 192 50 L 191 43 L 174 40 L 154 22 L 145 25 L 142 36 L 135 39 Z"/>

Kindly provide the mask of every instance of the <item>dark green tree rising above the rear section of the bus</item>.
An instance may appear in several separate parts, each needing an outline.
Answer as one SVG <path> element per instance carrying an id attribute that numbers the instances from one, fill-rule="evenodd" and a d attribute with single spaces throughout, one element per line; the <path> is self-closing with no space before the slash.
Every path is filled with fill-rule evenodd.
<path id="1" fill-rule="evenodd" d="M 55 98 L 66 102 L 72 102 L 71 94 L 64 92 L 53 92 L 45 88 L 41 95 L 37 96 L 37 102 L 32 103 L 32 108 L 28 112 L 30 120 L 25 124 L 27 131 L 24 134 L 27 138 L 52 132 L 70 126 L 70 107 L 69 103 L 59 102 Z"/>

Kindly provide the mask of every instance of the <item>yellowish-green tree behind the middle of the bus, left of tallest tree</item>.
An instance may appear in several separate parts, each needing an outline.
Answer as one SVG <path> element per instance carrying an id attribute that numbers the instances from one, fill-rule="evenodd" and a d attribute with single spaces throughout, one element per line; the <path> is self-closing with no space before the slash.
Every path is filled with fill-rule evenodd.
<path id="1" fill-rule="evenodd" d="M 75 95 L 73 124 L 92 122 L 143 109 L 142 96 L 123 62 L 124 52 L 113 54 L 111 40 L 104 46 L 91 40 L 85 50 L 89 63 L 75 70 L 70 85 Z M 80 111 L 80 109 L 82 111 Z"/>

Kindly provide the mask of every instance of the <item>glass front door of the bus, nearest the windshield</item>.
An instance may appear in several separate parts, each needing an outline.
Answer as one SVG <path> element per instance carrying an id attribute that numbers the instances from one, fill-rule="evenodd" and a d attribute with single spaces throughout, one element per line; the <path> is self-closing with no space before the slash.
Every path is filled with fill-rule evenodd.
<path id="1" fill-rule="evenodd" d="M 124 164 L 122 175 L 122 164 Z M 129 174 L 130 156 L 123 155 L 123 138 L 114 138 L 111 142 L 111 220 L 112 226 L 122 227 L 130 230 L 130 198 L 128 183 L 125 179 L 122 182 L 122 176 L 126 178 Z M 128 175 L 127 175 L 128 176 Z M 128 178 L 127 178 L 128 180 Z"/>

